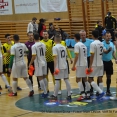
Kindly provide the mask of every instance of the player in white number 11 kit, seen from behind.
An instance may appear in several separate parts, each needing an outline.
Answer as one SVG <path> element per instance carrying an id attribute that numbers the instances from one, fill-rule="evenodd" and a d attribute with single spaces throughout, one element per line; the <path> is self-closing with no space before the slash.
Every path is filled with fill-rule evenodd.
<path id="1" fill-rule="evenodd" d="M 34 34 L 34 39 L 35 39 L 35 44 L 32 46 L 32 59 L 29 66 L 32 65 L 34 62 L 35 66 L 34 74 L 35 76 L 38 77 L 41 89 L 44 91 L 41 96 L 43 98 L 47 98 L 48 82 L 46 79 L 47 75 L 47 62 L 45 58 L 46 46 L 42 42 L 40 42 L 38 33 Z"/>

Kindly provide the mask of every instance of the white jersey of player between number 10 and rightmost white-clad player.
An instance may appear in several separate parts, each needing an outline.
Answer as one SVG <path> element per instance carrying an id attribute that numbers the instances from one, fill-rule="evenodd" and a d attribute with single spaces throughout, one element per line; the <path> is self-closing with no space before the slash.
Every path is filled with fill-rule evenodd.
<path id="1" fill-rule="evenodd" d="M 76 66 L 87 66 L 87 47 L 82 42 L 75 44 L 74 53 L 78 53 Z"/>

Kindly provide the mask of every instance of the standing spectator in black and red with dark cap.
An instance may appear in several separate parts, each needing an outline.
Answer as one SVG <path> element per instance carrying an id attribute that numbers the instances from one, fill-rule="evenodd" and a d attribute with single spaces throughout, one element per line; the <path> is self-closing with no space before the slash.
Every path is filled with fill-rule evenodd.
<path id="1" fill-rule="evenodd" d="M 40 40 L 43 39 L 43 31 L 46 30 L 46 26 L 45 26 L 45 20 L 43 18 L 41 18 L 39 20 L 39 24 L 38 24 L 38 33 L 39 33 L 39 36 L 40 36 Z"/>

